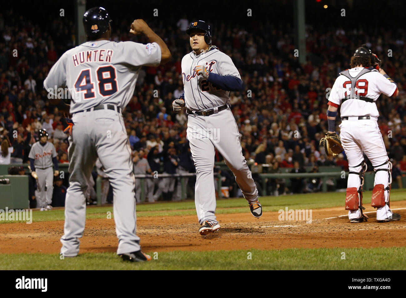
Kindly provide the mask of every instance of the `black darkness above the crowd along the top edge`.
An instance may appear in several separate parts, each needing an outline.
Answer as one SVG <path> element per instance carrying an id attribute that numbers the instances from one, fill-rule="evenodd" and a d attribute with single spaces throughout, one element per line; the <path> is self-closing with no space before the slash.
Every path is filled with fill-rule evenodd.
<path id="1" fill-rule="evenodd" d="M 341 24 L 346 26 L 360 26 L 369 28 L 387 27 L 397 28 L 403 26 L 401 21 L 406 9 L 402 0 L 354 0 L 350 7 L 346 0 L 306 0 L 306 23 L 317 26 L 318 29 L 337 27 Z M 2 11 L 13 8 L 15 14 L 23 16 L 34 15 L 39 23 L 47 24 L 53 15 L 58 16 L 59 9 L 65 9 L 65 16 L 73 17 L 73 0 L 55 1 L 7 1 L 2 3 Z M 146 21 L 153 17 L 153 9 L 158 9 L 159 18 L 165 20 L 168 17 L 180 18 L 186 15 L 188 19 L 205 19 L 207 21 L 227 20 L 246 26 L 250 29 L 251 23 L 269 19 L 277 26 L 293 24 L 293 0 L 251 0 L 251 1 L 171 1 L 149 0 L 145 2 L 114 0 L 98 1 L 88 0 L 86 8 L 104 6 L 112 15 L 113 19 L 128 19 L 131 21 L 143 18 Z M 328 9 L 324 9 L 324 4 Z M 341 9 L 346 9 L 346 17 L 341 17 Z M 252 9 L 253 16 L 247 17 L 247 9 Z"/>

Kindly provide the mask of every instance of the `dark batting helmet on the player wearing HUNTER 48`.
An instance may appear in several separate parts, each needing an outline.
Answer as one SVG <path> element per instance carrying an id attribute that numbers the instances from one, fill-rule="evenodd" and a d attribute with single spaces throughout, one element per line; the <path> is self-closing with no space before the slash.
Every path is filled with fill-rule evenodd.
<path id="1" fill-rule="evenodd" d="M 108 30 L 110 15 L 103 7 L 93 7 L 83 15 L 83 26 L 86 36 L 93 37 L 103 34 Z"/>

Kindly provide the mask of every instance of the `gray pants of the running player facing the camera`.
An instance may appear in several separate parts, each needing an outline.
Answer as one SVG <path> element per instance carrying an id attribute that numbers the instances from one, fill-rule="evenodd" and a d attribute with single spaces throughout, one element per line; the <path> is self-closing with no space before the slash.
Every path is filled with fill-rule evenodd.
<path id="1" fill-rule="evenodd" d="M 187 138 L 196 166 L 194 202 L 199 223 L 216 220 L 216 193 L 214 190 L 214 148 L 220 152 L 233 172 L 248 203 L 255 202 L 258 190 L 250 169 L 242 155 L 240 132 L 230 108 L 210 116 L 188 116 Z"/>

